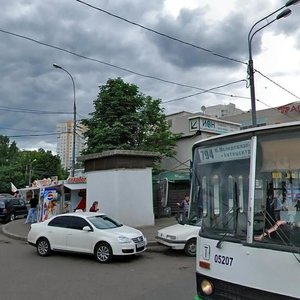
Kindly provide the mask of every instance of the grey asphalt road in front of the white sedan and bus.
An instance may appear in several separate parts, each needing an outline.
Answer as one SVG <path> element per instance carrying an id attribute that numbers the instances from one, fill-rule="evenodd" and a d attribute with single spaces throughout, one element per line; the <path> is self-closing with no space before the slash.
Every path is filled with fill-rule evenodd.
<path id="1" fill-rule="evenodd" d="M 133 258 L 99 264 L 84 255 L 39 257 L 34 247 L 1 233 L 0 298 L 192 300 L 195 258 L 160 246 L 151 249 Z"/>

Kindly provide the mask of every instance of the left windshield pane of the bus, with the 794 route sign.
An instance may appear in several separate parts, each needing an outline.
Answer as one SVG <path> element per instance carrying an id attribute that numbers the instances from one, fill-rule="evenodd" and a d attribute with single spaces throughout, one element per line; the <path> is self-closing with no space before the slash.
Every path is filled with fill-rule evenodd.
<path id="1" fill-rule="evenodd" d="M 216 141 L 195 149 L 192 195 L 197 201 L 190 214 L 198 208 L 204 234 L 246 239 L 250 143 Z"/>

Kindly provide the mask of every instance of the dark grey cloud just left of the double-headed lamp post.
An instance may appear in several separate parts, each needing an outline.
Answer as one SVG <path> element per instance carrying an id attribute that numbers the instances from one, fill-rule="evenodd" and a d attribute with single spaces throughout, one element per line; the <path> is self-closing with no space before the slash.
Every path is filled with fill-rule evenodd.
<path id="1" fill-rule="evenodd" d="M 211 24 L 205 18 L 205 10 L 182 10 L 176 20 L 160 19 L 158 28 L 183 41 L 204 48 L 195 49 L 163 37 L 153 37 L 160 54 L 183 69 L 193 67 L 236 68 L 236 63 L 221 56 L 246 61 L 248 24 L 244 16 L 230 15 L 220 23 Z M 214 55 L 217 54 L 217 55 Z"/>

